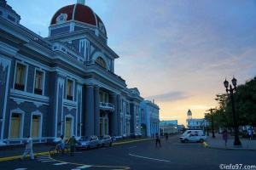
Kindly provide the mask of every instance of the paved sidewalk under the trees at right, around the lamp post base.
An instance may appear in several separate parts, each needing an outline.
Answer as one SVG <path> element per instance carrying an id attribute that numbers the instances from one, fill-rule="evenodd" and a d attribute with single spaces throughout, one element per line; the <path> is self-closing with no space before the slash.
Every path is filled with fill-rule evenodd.
<path id="1" fill-rule="evenodd" d="M 247 138 L 239 137 L 241 146 L 234 146 L 235 136 L 229 136 L 227 147 L 225 148 L 222 134 L 215 134 L 215 138 L 212 138 L 212 133 L 207 136 L 207 141 L 204 142 L 204 146 L 208 148 L 214 148 L 219 150 L 256 150 L 256 140 L 249 140 Z"/>

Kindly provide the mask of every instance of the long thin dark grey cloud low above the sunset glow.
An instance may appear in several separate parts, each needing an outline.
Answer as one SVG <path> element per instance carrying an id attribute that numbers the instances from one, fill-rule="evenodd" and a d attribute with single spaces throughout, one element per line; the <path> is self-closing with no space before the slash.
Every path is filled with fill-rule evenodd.
<path id="1" fill-rule="evenodd" d="M 183 92 L 169 92 L 167 94 L 157 94 L 154 96 L 148 96 L 146 99 L 155 99 L 157 101 L 177 101 L 181 99 L 188 99 L 191 96 L 185 95 Z"/>

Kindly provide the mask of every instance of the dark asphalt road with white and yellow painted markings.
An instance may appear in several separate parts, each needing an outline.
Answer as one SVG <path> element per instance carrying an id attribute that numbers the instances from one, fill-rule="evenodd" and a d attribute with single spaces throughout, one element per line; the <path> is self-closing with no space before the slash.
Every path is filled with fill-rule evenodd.
<path id="1" fill-rule="evenodd" d="M 35 161 L 0 162 L 1 169 L 220 169 L 219 166 L 255 166 L 255 151 L 212 150 L 200 143 L 182 144 L 178 135 L 161 147 L 154 140 L 115 144 L 96 150 L 76 151 L 75 156 L 37 156 Z M 36 168 L 35 168 L 36 167 Z M 255 167 L 256 168 L 256 167 Z M 227 169 L 227 168 L 226 168 Z M 238 169 L 238 168 L 236 168 Z"/>

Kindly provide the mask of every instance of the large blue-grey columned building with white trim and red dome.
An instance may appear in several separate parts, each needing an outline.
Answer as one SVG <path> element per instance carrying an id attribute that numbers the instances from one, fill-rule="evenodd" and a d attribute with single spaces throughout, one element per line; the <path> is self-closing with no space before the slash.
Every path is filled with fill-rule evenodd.
<path id="1" fill-rule="evenodd" d="M 83 0 L 55 12 L 46 38 L 21 26 L 20 15 L 0 0 L 0 32 L 2 144 L 22 144 L 27 134 L 46 143 L 61 134 L 141 133 L 143 98 L 114 73 L 119 55 Z M 152 108 L 154 133 L 159 108 Z"/>

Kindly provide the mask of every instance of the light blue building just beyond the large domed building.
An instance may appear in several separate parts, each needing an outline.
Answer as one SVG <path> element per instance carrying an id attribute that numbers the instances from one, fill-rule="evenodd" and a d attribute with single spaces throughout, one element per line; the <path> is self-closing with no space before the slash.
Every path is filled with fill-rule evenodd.
<path id="1" fill-rule="evenodd" d="M 143 137 L 152 137 L 155 133 L 160 133 L 160 107 L 152 101 L 143 100 L 141 107 L 141 129 Z"/>

